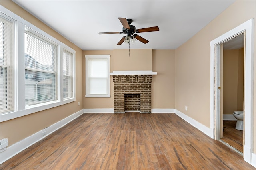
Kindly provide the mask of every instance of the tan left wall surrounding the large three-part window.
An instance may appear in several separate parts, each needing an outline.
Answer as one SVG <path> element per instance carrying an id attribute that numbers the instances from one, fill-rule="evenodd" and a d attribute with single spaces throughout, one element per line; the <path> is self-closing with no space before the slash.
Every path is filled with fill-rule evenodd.
<path id="1" fill-rule="evenodd" d="M 81 79 L 83 76 L 83 59 L 82 49 L 66 40 L 60 34 L 46 26 L 44 23 L 40 22 L 38 19 L 20 8 L 14 2 L 1 1 L 1 5 L 76 51 L 76 101 L 52 109 L 40 111 L 38 113 L 33 113 L 16 119 L 11 119 L 9 121 L 1 122 L 0 138 L 8 138 L 10 146 L 83 109 L 82 105 L 78 106 L 78 101 L 83 101 L 82 93 L 79 93 L 83 90 Z"/>

